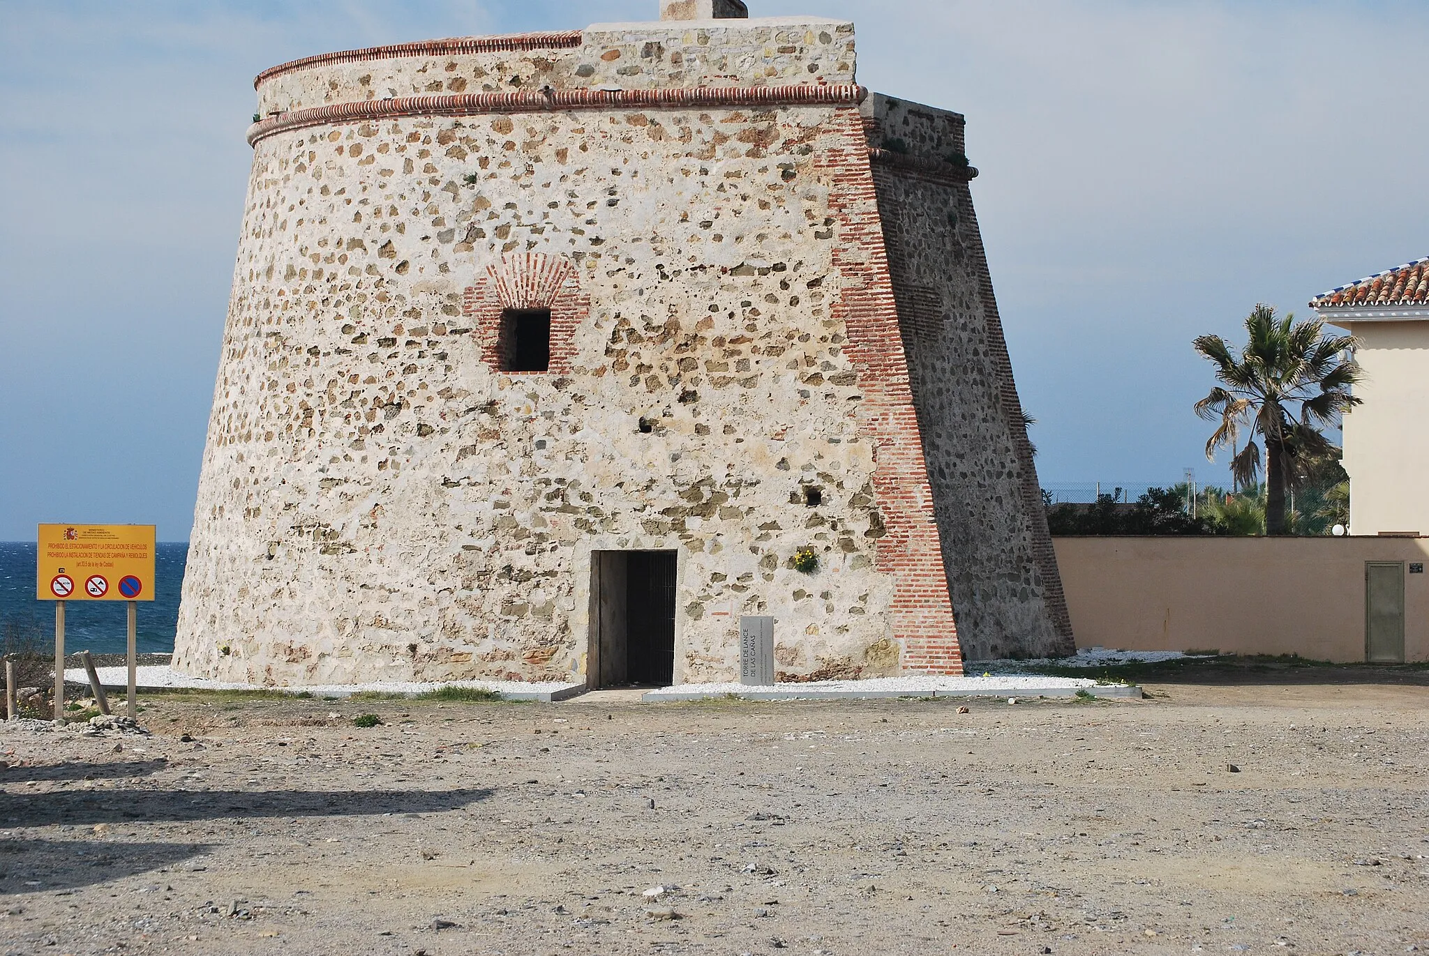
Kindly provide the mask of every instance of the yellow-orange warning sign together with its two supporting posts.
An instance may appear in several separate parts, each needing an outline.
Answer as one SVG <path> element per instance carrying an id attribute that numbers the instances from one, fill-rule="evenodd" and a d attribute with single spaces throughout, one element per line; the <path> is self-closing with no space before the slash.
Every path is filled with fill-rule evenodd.
<path id="1" fill-rule="evenodd" d="M 129 602 L 129 716 L 139 717 L 139 602 L 154 599 L 153 524 L 40 524 L 36 597 L 54 602 L 54 719 L 64 719 L 64 603 Z"/>

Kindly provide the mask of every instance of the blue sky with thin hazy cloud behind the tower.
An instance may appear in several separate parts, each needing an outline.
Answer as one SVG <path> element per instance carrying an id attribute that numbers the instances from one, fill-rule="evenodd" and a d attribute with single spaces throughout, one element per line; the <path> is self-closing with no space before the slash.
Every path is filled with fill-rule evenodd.
<path id="1" fill-rule="evenodd" d="M 1429 254 L 1419 0 L 750 7 L 852 19 L 865 84 L 967 116 L 1047 483 L 1220 480 L 1190 339 Z M 0 540 L 41 520 L 187 537 L 259 70 L 656 9 L 0 0 Z"/>

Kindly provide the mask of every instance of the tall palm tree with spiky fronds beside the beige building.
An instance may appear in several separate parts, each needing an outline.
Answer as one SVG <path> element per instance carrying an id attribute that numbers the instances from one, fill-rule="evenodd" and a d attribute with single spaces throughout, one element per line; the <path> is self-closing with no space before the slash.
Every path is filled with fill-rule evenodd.
<path id="1" fill-rule="evenodd" d="M 1295 324 L 1273 306 L 1258 304 L 1246 317 L 1248 342 L 1240 354 L 1220 336 L 1199 336 L 1196 352 L 1216 366 L 1220 384 L 1196 403 L 1196 414 L 1219 422 L 1206 442 L 1206 457 L 1236 444 L 1230 473 L 1253 486 L 1265 443 L 1266 534 L 1286 534 L 1285 493 L 1298 487 L 1306 464 L 1333 454 L 1322 429 L 1336 427 L 1340 414 L 1360 403 L 1350 387 L 1360 382 L 1359 364 L 1343 353 L 1359 344 L 1353 336 L 1326 336 L 1319 319 Z M 1295 406 L 1299 406 L 1296 409 Z M 1242 430 L 1246 444 L 1239 449 Z"/>

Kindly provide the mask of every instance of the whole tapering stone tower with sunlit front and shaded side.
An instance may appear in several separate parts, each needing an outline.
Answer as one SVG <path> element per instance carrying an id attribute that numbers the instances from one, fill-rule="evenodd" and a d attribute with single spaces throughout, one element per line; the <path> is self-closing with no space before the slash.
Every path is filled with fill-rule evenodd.
<path id="1" fill-rule="evenodd" d="M 857 86 L 850 23 L 662 14 L 257 77 L 179 669 L 1072 650 L 963 117 Z"/>

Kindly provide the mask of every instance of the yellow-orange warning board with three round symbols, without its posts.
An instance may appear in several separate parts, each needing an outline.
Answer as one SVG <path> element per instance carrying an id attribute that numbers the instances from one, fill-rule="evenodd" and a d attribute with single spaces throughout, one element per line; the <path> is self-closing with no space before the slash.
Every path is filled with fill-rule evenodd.
<path id="1" fill-rule="evenodd" d="M 41 524 L 36 597 L 153 600 L 153 524 Z"/>

